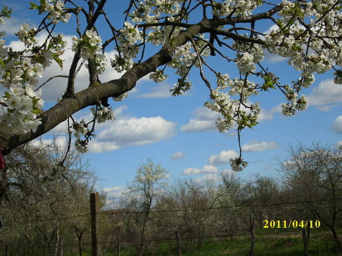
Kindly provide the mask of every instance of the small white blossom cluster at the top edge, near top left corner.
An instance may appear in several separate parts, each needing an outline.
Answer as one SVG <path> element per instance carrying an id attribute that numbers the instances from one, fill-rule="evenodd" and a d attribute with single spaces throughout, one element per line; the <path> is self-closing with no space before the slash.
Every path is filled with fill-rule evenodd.
<path id="1" fill-rule="evenodd" d="M 71 17 L 70 13 L 64 12 L 64 5 L 65 2 L 62 0 L 41 0 L 40 5 L 35 4 L 34 2 L 30 2 L 31 7 L 30 9 L 37 9 L 39 10 L 39 14 L 45 14 L 46 12 L 47 20 L 52 20 L 54 24 L 59 23 L 62 20 L 63 23 L 68 22 Z"/>

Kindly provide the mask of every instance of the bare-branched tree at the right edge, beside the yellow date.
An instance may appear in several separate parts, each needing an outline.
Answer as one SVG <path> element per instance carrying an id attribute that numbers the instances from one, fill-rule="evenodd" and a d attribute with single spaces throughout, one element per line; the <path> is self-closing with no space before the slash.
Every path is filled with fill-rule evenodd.
<path id="1" fill-rule="evenodd" d="M 278 171 L 292 201 L 302 201 L 299 211 L 306 204 L 299 213 L 307 219 L 317 218 L 329 228 L 336 250 L 342 252 L 336 232 L 342 214 L 342 147 L 319 142 L 290 146 L 289 157 L 279 160 Z"/>

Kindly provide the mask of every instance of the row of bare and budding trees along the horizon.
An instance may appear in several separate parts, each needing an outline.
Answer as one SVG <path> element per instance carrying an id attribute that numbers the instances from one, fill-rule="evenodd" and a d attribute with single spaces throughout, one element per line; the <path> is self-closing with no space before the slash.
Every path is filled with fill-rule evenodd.
<path id="1" fill-rule="evenodd" d="M 170 181 L 167 170 L 149 159 L 137 168 L 120 197 L 110 200 L 101 194 L 99 239 L 110 247 L 120 236 L 131 241 L 140 255 L 157 246 L 156 241 L 173 238 L 175 231 L 189 238 L 182 246 L 195 248 L 205 237 L 226 236 L 233 241 L 237 234 L 249 234 L 252 218 L 256 230 L 264 232 L 265 220 L 319 220 L 334 250 L 341 252 L 341 151 L 318 142 L 299 144 L 277 160 L 274 177 L 256 174 L 246 179 L 222 172 L 219 181 L 205 184 Z M 6 156 L 0 190 L 2 251 L 7 247 L 10 255 L 56 256 L 62 248 L 66 255 L 83 255 L 87 250 L 89 193 L 96 177 L 89 162 L 72 152 L 65 159 L 69 168 L 55 182 L 42 177 L 49 170 L 47 163 L 64 157 L 56 143 L 25 144 Z M 174 246 L 172 240 L 169 246 Z"/>

